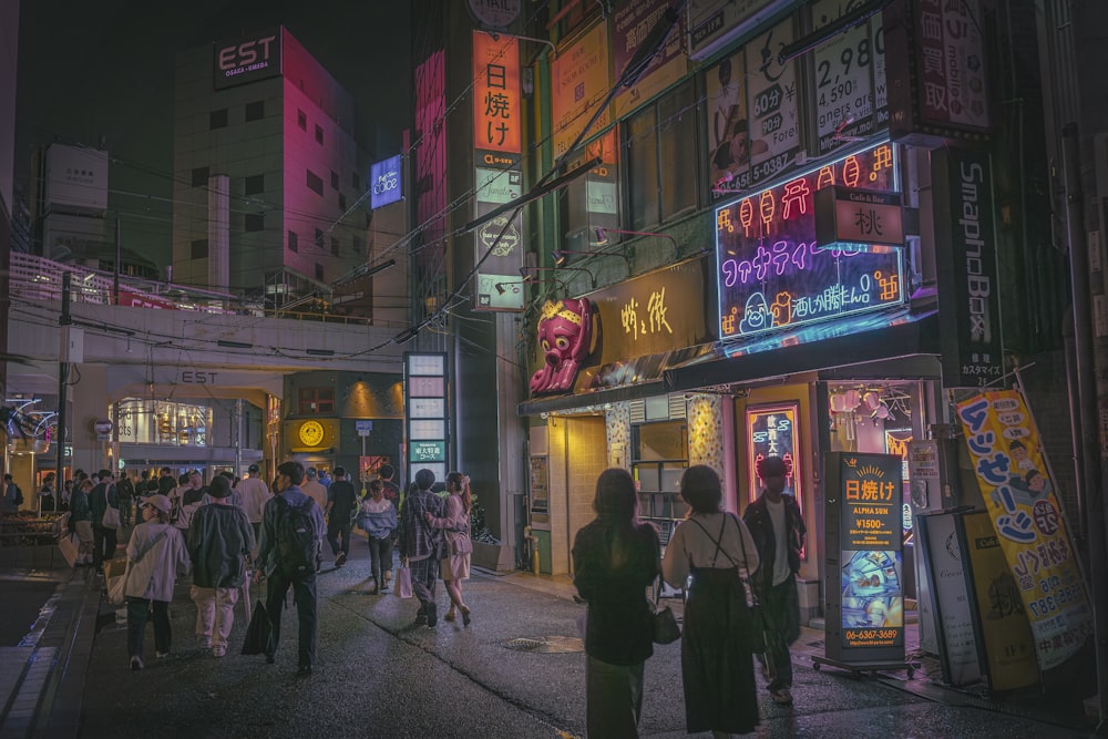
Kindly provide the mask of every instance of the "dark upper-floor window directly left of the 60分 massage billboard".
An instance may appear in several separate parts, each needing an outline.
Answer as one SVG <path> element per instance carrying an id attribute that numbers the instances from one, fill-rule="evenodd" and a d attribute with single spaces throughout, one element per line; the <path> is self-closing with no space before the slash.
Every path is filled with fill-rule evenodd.
<path id="1" fill-rule="evenodd" d="M 688 186 L 698 182 L 695 105 L 690 81 L 624 124 L 627 217 L 633 230 L 648 229 L 696 207 L 696 188 Z"/>

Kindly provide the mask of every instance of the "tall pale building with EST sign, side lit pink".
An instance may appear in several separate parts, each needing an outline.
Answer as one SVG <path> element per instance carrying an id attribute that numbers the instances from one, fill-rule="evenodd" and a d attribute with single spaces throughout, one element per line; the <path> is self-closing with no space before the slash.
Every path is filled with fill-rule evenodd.
<path id="1" fill-rule="evenodd" d="M 181 53 L 173 281 L 280 306 L 363 264 L 355 123 L 353 99 L 284 28 Z"/>

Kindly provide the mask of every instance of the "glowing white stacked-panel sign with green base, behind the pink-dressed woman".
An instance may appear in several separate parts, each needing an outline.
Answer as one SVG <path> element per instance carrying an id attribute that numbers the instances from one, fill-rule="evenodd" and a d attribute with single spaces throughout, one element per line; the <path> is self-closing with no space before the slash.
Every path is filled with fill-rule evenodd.
<path id="1" fill-rule="evenodd" d="M 430 470 L 438 481 L 447 476 L 450 461 L 449 402 L 445 353 L 404 353 L 404 464 L 414 480 Z"/>

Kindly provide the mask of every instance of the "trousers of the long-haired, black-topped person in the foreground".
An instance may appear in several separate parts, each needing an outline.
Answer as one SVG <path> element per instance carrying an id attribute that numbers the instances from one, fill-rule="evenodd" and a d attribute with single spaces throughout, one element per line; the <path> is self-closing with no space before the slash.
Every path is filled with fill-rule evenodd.
<path id="1" fill-rule="evenodd" d="M 611 665 L 585 658 L 585 723 L 589 737 L 637 737 L 646 663 Z"/>

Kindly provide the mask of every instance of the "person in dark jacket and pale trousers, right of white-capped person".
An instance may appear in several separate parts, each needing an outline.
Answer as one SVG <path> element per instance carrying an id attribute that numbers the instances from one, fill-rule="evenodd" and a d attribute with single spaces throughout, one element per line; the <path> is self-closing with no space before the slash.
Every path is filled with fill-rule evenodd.
<path id="1" fill-rule="evenodd" d="M 196 510 L 186 538 L 193 561 L 189 595 L 196 604 L 196 639 L 213 657 L 223 657 L 246 582 L 246 555 L 254 551 L 254 527 L 230 502 L 226 478 L 216 475 L 208 494 L 212 502 Z"/>

